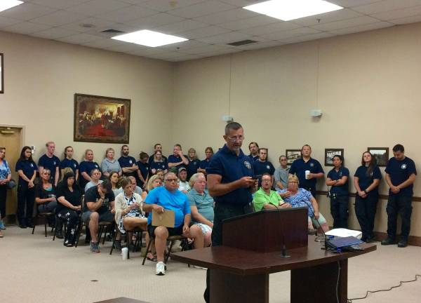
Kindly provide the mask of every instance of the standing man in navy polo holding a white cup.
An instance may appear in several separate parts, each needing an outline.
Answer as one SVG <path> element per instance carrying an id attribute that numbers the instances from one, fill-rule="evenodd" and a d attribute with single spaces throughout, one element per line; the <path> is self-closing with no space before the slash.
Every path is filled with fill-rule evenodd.
<path id="1" fill-rule="evenodd" d="M 316 196 L 316 179 L 324 176 L 323 168 L 320 162 L 311 157 L 312 147 L 305 144 L 301 149 L 301 158 L 293 162 L 290 167 L 290 175 L 297 175 L 300 181 L 300 187 L 307 189 Z M 306 175 L 306 170 L 309 173 Z"/>

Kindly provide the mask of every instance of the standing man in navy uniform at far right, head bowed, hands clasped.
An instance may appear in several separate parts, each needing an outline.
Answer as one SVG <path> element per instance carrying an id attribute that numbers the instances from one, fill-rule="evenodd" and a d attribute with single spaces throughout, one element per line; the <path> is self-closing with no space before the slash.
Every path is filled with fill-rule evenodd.
<path id="1" fill-rule="evenodd" d="M 401 214 L 401 238 L 398 247 L 408 245 L 410 231 L 410 215 L 412 214 L 413 183 L 417 176 L 417 169 L 413 160 L 405 156 L 403 145 L 393 147 L 394 157 L 389 159 L 386 173 L 386 182 L 389 185 L 389 199 L 387 201 L 387 238 L 382 245 L 393 244 L 396 237 L 396 220 Z"/>

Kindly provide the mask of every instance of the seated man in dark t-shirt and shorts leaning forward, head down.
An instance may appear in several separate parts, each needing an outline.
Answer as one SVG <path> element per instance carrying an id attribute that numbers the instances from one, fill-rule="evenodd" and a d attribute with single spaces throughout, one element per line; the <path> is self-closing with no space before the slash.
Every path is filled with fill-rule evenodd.
<path id="1" fill-rule="evenodd" d="M 97 238 L 98 222 L 114 222 L 114 214 L 111 213 L 111 208 L 114 208 L 114 193 L 108 179 L 85 192 L 82 221 L 91 232 L 92 253 L 100 252 Z"/>

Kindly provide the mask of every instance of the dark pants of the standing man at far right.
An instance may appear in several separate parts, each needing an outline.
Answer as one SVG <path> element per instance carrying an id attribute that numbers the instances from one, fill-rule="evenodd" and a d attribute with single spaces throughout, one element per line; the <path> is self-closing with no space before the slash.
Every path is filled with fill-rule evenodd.
<path id="1" fill-rule="evenodd" d="M 408 240 L 410 231 L 410 215 L 412 215 L 412 196 L 390 195 L 387 201 L 387 236 L 394 239 L 396 236 L 396 221 L 398 213 L 401 214 L 401 238 Z"/>

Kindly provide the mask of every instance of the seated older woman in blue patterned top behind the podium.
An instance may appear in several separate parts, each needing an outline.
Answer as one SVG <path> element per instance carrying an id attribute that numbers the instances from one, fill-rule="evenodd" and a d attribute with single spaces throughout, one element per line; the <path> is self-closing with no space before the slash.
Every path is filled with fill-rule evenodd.
<path id="1" fill-rule="evenodd" d="M 328 231 L 328 223 L 326 219 L 319 213 L 319 205 L 312 194 L 306 189 L 298 188 L 298 177 L 290 175 L 288 177 L 288 188 L 278 191 L 283 201 L 289 203 L 291 207 L 307 207 L 309 210 L 308 227 L 313 229 L 313 226 L 318 229 L 321 227 L 323 231 Z M 320 223 L 320 226 L 319 226 Z"/>

